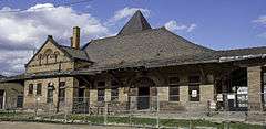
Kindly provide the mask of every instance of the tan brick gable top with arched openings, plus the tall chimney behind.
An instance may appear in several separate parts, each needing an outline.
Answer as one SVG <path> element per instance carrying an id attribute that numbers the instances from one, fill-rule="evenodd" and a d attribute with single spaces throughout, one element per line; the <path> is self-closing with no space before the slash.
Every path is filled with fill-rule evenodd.
<path id="1" fill-rule="evenodd" d="M 86 53 L 80 50 L 80 29 L 73 29 L 71 46 L 60 45 L 51 35 L 25 64 L 27 73 L 72 71 L 91 64 Z"/>

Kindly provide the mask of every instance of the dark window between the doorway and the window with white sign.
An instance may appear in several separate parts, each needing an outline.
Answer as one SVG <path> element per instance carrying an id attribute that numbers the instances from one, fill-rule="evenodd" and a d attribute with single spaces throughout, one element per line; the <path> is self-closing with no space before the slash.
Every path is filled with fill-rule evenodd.
<path id="1" fill-rule="evenodd" d="M 178 77 L 168 78 L 168 100 L 180 101 L 180 78 Z"/>

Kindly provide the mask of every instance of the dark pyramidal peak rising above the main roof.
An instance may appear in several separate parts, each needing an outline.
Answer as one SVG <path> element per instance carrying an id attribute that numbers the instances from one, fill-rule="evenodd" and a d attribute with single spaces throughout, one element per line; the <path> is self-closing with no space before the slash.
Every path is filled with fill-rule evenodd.
<path id="1" fill-rule="evenodd" d="M 152 29 L 142 12 L 137 10 L 130 21 L 122 28 L 117 35 L 129 35 L 147 29 Z"/>

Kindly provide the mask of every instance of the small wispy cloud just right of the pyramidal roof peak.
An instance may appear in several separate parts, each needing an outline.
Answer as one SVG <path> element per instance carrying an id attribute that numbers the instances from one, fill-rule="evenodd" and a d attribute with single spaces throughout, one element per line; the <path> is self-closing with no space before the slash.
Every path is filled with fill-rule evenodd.
<path id="1" fill-rule="evenodd" d="M 171 31 L 185 31 L 185 32 L 192 32 L 197 25 L 195 23 L 192 24 L 181 24 L 177 23 L 174 20 L 171 20 L 165 23 L 165 28 Z"/>

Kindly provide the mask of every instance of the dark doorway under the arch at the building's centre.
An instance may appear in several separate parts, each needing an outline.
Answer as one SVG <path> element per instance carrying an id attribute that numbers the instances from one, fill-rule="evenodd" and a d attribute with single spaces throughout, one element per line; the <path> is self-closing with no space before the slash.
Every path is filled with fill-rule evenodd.
<path id="1" fill-rule="evenodd" d="M 139 87 L 137 109 L 149 109 L 150 107 L 150 87 Z"/>

